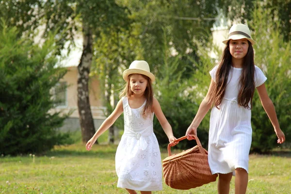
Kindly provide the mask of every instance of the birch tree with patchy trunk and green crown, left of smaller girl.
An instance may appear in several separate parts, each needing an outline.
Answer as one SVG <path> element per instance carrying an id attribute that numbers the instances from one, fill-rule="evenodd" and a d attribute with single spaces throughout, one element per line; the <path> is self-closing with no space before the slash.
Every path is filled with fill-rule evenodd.
<path id="1" fill-rule="evenodd" d="M 78 110 L 82 142 L 87 142 L 95 133 L 88 90 L 93 42 L 101 32 L 110 32 L 112 27 L 118 31 L 120 26 L 127 26 L 128 11 L 114 0 L 48 0 L 44 7 L 47 28 L 58 30 L 61 48 L 66 41 L 73 40 L 70 34 L 81 24 L 83 51 L 78 65 Z"/>

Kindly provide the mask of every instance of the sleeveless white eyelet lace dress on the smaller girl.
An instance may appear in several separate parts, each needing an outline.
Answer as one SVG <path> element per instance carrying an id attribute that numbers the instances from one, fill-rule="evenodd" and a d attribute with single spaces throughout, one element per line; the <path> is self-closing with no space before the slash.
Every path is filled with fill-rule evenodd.
<path id="1" fill-rule="evenodd" d="M 117 187 L 138 191 L 162 190 L 162 162 L 158 140 L 153 132 L 154 113 L 144 119 L 145 103 L 131 109 L 122 98 L 124 134 L 115 155 Z"/>

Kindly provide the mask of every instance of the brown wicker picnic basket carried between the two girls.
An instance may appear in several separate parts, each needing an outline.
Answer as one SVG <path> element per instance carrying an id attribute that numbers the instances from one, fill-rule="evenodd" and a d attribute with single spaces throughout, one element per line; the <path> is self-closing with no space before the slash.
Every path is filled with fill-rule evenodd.
<path id="1" fill-rule="evenodd" d="M 211 175 L 208 163 L 208 152 L 202 147 L 197 136 L 194 136 L 197 146 L 171 155 L 171 146 L 168 145 L 169 156 L 162 161 L 165 183 L 173 189 L 187 190 L 213 182 L 217 174 Z M 186 139 L 183 136 L 175 141 Z"/>

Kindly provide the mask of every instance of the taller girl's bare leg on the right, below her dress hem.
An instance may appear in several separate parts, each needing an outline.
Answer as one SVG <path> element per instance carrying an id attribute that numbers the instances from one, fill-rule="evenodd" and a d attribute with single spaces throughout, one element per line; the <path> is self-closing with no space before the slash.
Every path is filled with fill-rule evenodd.
<path id="1" fill-rule="evenodd" d="M 245 194 L 248 182 L 248 173 L 243 168 L 235 169 L 235 194 Z"/>

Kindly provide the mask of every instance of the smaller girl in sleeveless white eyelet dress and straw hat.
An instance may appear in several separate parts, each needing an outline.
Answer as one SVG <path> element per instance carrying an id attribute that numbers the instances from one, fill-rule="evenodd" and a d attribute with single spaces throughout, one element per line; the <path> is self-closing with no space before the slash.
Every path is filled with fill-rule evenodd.
<path id="1" fill-rule="evenodd" d="M 132 62 L 123 72 L 123 79 L 127 84 L 122 98 L 88 141 L 86 149 L 90 150 L 97 138 L 124 112 L 124 134 L 115 155 L 117 187 L 125 188 L 129 194 L 136 194 L 135 190 L 151 194 L 151 191 L 162 190 L 162 162 L 153 132 L 154 114 L 172 146 L 177 144 L 173 142 L 176 138 L 158 100 L 153 97 L 152 81 L 155 81 L 155 76 L 150 73 L 146 61 Z"/>

